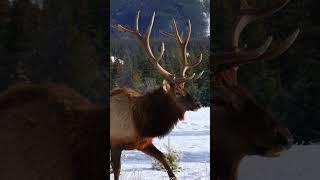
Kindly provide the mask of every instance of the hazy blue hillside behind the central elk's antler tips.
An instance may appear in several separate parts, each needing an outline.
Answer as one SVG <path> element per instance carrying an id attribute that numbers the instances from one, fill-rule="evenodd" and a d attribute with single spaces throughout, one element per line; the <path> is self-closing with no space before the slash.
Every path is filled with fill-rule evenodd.
<path id="1" fill-rule="evenodd" d="M 140 27 L 147 27 L 153 12 L 156 12 L 154 34 L 158 30 L 170 31 L 172 18 L 180 27 L 185 27 L 187 20 L 192 23 L 192 36 L 208 35 L 209 0 L 111 0 L 111 24 L 121 23 L 133 27 L 134 17 L 140 13 Z"/>

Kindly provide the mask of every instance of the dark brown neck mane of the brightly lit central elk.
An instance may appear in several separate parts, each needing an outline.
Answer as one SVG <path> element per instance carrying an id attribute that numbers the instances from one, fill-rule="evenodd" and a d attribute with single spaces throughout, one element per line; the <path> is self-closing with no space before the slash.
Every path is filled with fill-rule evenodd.
<path id="1" fill-rule="evenodd" d="M 162 87 L 138 97 L 133 107 L 136 128 L 141 136 L 163 137 L 171 132 L 185 111 Z"/>

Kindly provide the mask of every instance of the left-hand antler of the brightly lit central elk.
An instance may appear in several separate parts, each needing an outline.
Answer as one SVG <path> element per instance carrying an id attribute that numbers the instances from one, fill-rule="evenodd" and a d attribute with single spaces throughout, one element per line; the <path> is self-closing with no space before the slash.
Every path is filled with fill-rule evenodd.
<path id="1" fill-rule="evenodd" d="M 120 24 L 116 24 L 116 25 L 112 25 L 113 28 L 117 29 L 118 31 L 121 32 L 128 32 L 134 36 L 136 36 L 144 45 L 144 47 L 147 50 L 147 54 L 150 57 L 149 60 L 150 62 L 158 69 L 158 71 L 160 72 L 160 74 L 162 74 L 163 76 L 165 76 L 166 78 L 168 78 L 169 80 L 172 80 L 174 78 L 174 75 L 171 74 L 170 72 L 166 71 L 160 64 L 159 61 L 162 59 L 163 55 L 164 55 L 164 42 L 161 42 L 161 52 L 159 57 L 155 57 L 152 49 L 150 47 L 150 35 L 151 35 L 151 31 L 152 31 L 152 27 L 153 27 L 153 22 L 154 22 L 154 18 L 155 18 L 155 12 L 153 13 L 153 16 L 151 18 L 151 21 L 148 25 L 147 31 L 145 32 L 145 35 L 142 36 L 141 33 L 139 32 L 139 16 L 140 16 L 140 11 L 138 11 L 136 17 L 135 17 L 135 24 L 134 24 L 134 30 L 129 30 L 125 27 L 123 27 Z"/>

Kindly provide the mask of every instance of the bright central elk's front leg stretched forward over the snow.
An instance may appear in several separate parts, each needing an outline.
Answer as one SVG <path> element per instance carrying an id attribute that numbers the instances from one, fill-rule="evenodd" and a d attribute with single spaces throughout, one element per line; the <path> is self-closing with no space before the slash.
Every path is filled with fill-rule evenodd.
<path id="1" fill-rule="evenodd" d="M 167 173 L 170 177 L 170 179 L 176 179 L 176 176 L 173 174 L 166 158 L 165 155 L 157 149 L 153 144 L 148 145 L 146 148 L 141 150 L 143 153 L 157 159 L 158 161 L 161 162 L 161 164 L 164 166 L 164 168 L 167 170 Z"/>

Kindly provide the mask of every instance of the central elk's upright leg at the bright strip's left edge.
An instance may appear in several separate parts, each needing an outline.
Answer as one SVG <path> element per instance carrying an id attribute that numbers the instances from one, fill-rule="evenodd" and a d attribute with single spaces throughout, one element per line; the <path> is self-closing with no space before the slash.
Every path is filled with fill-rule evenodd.
<path id="1" fill-rule="evenodd" d="M 113 169 L 114 180 L 119 180 L 121 169 L 121 147 L 111 147 L 111 166 Z"/>

